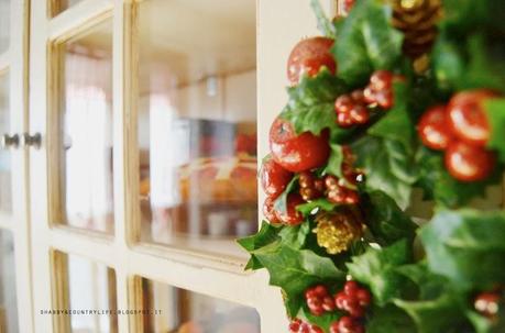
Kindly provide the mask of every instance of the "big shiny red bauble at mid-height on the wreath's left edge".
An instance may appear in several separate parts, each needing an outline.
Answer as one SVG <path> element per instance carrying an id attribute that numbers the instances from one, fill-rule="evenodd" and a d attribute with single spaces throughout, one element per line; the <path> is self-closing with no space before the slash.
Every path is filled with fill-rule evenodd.
<path id="1" fill-rule="evenodd" d="M 330 155 L 329 132 L 317 136 L 310 132 L 296 134 L 293 125 L 277 118 L 270 130 L 272 157 L 286 170 L 301 173 L 323 166 Z"/>

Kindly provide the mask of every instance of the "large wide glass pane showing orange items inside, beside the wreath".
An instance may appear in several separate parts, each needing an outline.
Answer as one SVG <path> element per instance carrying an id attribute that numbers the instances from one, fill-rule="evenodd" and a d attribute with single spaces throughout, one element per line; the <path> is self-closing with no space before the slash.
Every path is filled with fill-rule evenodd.
<path id="1" fill-rule="evenodd" d="M 142 240 L 242 255 L 232 240 L 257 229 L 255 1 L 139 7 Z"/>

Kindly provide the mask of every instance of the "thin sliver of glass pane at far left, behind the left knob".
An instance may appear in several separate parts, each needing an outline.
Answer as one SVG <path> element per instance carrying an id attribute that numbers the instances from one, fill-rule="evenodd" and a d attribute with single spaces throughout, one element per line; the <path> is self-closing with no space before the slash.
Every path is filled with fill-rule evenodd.
<path id="1" fill-rule="evenodd" d="M 9 75 L 0 74 L 0 135 L 10 133 Z M 8 149 L 0 149 L 0 211 L 12 211 L 11 158 Z"/>

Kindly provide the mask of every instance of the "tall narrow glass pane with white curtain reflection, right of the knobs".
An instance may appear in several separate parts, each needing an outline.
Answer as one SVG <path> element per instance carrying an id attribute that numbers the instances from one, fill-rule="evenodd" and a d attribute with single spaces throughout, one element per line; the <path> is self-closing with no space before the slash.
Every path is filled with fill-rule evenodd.
<path id="1" fill-rule="evenodd" d="M 58 45 L 62 220 L 113 233 L 112 21 Z"/>

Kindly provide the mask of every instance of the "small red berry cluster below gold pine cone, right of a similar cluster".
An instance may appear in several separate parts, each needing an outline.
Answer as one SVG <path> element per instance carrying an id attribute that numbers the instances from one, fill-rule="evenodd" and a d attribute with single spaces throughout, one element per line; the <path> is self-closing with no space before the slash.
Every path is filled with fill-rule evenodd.
<path id="1" fill-rule="evenodd" d="M 347 281 L 343 290 L 334 296 L 337 308 L 348 312 L 352 318 L 363 318 L 371 301 L 370 291 L 355 281 Z"/>

